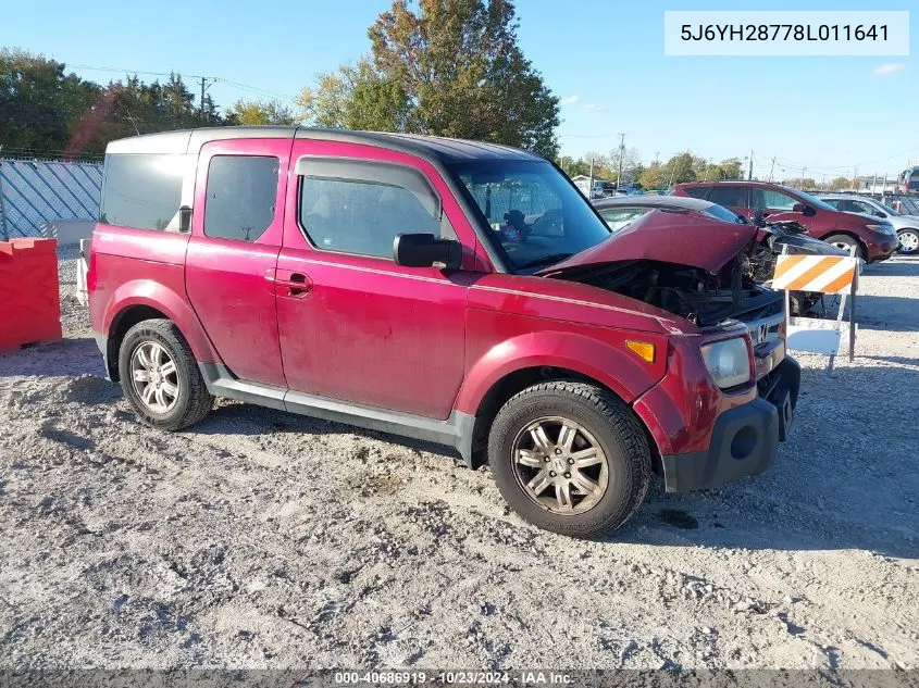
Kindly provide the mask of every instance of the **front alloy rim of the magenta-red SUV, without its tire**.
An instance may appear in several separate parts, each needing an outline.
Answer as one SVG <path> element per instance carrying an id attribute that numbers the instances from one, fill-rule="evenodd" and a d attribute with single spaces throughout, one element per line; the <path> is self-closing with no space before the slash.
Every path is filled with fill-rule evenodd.
<path id="1" fill-rule="evenodd" d="M 609 486 L 607 456 L 582 425 L 547 416 L 526 425 L 513 441 L 513 468 L 523 492 L 560 515 L 594 508 Z"/>

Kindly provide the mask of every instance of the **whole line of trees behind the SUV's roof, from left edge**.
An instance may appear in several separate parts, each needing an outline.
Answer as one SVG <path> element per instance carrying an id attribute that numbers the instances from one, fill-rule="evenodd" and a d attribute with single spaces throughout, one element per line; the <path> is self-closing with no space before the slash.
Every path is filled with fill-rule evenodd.
<path id="1" fill-rule="evenodd" d="M 412 3 L 415 4 L 415 3 Z M 197 126 L 291 124 L 406 132 L 558 153 L 559 100 L 518 43 L 510 0 L 395 0 L 369 27 L 371 52 L 320 74 L 294 103 L 221 111 L 181 74 L 97 84 L 64 63 L 0 49 L 3 151 L 99 154 L 117 138 Z"/>

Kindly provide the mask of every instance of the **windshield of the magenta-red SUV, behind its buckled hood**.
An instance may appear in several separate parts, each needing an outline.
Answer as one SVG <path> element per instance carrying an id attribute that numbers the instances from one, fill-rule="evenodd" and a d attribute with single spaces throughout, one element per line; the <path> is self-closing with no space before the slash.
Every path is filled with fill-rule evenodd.
<path id="1" fill-rule="evenodd" d="M 462 182 L 516 271 L 562 261 L 610 236 L 589 203 L 547 162 L 458 163 Z"/>

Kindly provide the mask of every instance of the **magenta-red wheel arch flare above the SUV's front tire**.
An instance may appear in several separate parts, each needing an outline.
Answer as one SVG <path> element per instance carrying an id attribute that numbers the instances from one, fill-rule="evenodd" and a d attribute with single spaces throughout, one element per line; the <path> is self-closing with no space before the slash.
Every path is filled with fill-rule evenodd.
<path id="1" fill-rule="evenodd" d="M 666 372 L 667 337 L 641 333 L 660 352 L 654 364 L 630 351 L 574 333 L 547 332 L 518 335 L 486 351 L 467 370 L 457 396 L 457 411 L 475 415 L 485 395 L 511 373 L 532 367 L 559 367 L 591 377 L 625 403 L 658 383 Z"/>

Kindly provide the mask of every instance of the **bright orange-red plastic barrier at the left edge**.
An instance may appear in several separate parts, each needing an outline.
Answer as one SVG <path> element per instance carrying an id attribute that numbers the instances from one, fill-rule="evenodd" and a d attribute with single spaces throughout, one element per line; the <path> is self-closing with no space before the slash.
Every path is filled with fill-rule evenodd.
<path id="1" fill-rule="evenodd" d="M 61 338 L 58 241 L 0 241 L 0 351 Z"/>

